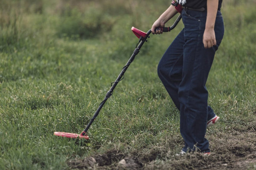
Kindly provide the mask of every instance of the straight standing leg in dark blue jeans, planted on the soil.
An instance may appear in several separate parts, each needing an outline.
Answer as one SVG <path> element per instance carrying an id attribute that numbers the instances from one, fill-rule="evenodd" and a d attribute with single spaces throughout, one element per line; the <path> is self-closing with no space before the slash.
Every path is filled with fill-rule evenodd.
<path id="1" fill-rule="evenodd" d="M 183 10 L 182 16 L 186 43 L 182 81 L 178 89 L 180 132 L 190 150 L 210 152 L 209 142 L 204 137 L 209 109 L 206 81 L 217 46 L 205 49 L 203 45 L 206 11 Z"/>

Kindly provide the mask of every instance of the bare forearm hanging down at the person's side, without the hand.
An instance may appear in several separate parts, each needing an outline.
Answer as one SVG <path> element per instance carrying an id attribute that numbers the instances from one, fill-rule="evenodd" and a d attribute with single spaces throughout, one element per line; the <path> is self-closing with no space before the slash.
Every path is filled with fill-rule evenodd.
<path id="1" fill-rule="evenodd" d="M 219 0 L 207 0 L 206 29 L 214 29 Z"/>

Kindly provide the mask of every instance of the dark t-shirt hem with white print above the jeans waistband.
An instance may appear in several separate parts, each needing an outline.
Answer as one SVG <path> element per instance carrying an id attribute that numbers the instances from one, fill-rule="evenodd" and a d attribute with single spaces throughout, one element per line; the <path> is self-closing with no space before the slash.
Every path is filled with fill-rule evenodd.
<path id="1" fill-rule="evenodd" d="M 177 3 L 181 4 L 184 7 L 189 7 L 194 9 L 207 7 L 207 0 L 176 0 L 176 1 Z M 222 3 L 222 0 L 219 0 L 219 7 L 218 7 L 219 10 L 221 8 L 221 3 Z"/>

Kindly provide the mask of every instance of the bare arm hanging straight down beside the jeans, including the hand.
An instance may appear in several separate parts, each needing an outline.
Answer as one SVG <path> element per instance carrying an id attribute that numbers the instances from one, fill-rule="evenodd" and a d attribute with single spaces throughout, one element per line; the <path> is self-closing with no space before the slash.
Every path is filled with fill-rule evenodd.
<path id="1" fill-rule="evenodd" d="M 204 48 L 211 48 L 216 45 L 214 24 L 218 10 L 219 0 L 207 0 L 207 17 L 203 35 Z"/>

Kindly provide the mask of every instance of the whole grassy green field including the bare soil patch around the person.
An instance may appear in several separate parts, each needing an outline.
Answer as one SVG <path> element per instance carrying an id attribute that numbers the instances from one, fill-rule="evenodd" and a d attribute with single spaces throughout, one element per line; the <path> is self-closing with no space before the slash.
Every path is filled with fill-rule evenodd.
<path id="1" fill-rule="evenodd" d="M 183 147 L 179 112 L 157 64 L 183 28 L 151 35 L 88 131 L 81 133 L 170 0 L 1 0 L 0 169 L 256 169 L 256 2 L 223 1 L 225 35 L 207 88 L 220 116 L 211 156 Z M 171 20 L 167 24 L 172 24 Z M 119 164 L 124 159 L 126 164 Z"/>

